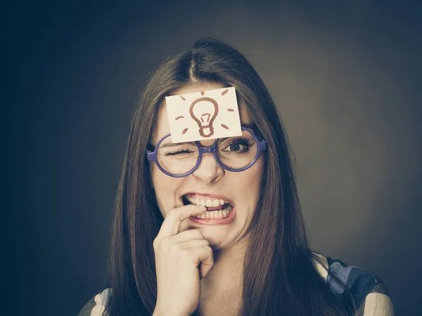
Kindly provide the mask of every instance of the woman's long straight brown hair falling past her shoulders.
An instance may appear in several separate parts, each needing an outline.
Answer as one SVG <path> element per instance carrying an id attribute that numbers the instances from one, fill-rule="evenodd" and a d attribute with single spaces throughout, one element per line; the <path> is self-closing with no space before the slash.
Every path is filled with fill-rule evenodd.
<path id="1" fill-rule="evenodd" d="M 266 86 L 235 48 L 208 38 L 164 60 L 134 110 L 115 200 L 105 315 L 153 314 L 153 239 L 163 218 L 145 152 L 163 98 L 193 82 L 234 86 L 268 144 L 259 211 L 247 232 L 254 242 L 245 253 L 238 315 L 353 315 L 348 291 L 338 300 L 314 267 L 318 258 L 307 243 L 286 132 Z"/>

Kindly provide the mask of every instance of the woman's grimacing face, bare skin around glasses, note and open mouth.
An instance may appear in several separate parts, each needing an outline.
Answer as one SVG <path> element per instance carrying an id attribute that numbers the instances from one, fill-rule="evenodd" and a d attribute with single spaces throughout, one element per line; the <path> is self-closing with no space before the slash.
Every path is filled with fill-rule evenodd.
<path id="1" fill-rule="evenodd" d="M 198 84 L 181 88 L 175 91 L 174 95 L 223 87 L 220 84 Z M 238 106 L 242 126 L 252 125 L 253 122 L 243 102 L 239 102 Z M 150 142 L 156 145 L 160 138 L 169 133 L 167 110 L 165 105 L 162 105 L 158 114 L 157 126 L 153 131 Z M 214 141 L 200 141 L 200 144 L 208 147 Z M 260 154 L 255 164 L 249 169 L 241 172 L 226 171 L 217 163 L 213 154 L 203 154 L 198 169 L 184 178 L 167 176 L 158 169 L 155 162 L 151 162 L 150 166 L 155 196 L 164 218 L 172 209 L 184 206 L 186 204 L 184 197 L 187 196 L 193 202 L 200 202 L 201 199 L 205 202 L 207 199 L 210 199 L 210 202 L 215 202 L 213 201 L 215 199 L 223 199 L 233 207 L 229 216 L 230 220 L 226 220 L 224 223 L 215 223 L 218 220 L 202 220 L 203 223 L 199 223 L 198 220 L 188 218 L 181 223 L 179 232 L 196 228 L 203 233 L 213 249 L 227 248 L 245 237 L 244 233 L 255 209 L 257 209 L 264 170 L 263 154 Z"/>

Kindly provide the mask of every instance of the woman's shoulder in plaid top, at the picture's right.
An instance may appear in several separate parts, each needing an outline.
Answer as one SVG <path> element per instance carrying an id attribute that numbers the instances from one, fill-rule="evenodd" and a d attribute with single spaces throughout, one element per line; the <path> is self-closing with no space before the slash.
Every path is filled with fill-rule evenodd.
<path id="1" fill-rule="evenodd" d="M 315 251 L 313 254 L 319 258 L 319 260 L 314 260 L 314 267 L 333 294 L 341 297 L 345 288 L 350 291 L 357 307 L 357 315 L 394 315 L 390 294 L 378 275 L 357 265 L 346 265 L 343 261 L 325 257 Z"/>

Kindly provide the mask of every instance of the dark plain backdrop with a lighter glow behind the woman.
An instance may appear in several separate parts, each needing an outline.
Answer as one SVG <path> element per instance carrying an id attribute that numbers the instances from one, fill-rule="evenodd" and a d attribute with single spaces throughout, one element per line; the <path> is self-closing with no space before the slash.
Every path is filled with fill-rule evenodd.
<path id="1" fill-rule="evenodd" d="M 397 315 L 421 315 L 421 4 L 157 2 L 2 10 L 11 310 L 1 314 L 76 315 L 106 286 L 140 88 L 166 55 L 212 36 L 246 55 L 279 106 L 312 248 L 379 275 Z"/>

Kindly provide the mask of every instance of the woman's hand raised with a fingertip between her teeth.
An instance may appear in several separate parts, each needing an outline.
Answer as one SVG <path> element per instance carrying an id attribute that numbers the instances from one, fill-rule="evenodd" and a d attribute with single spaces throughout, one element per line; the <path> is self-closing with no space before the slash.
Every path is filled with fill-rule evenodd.
<path id="1" fill-rule="evenodd" d="M 173 209 L 154 239 L 158 291 L 154 315 L 186 316 L 198 308 L 200 279 L 214 265 L 212 249 L 200 230 L 177 232 L 182 220 L 206 210 L 196 205 Z"/>

